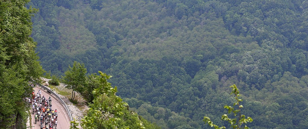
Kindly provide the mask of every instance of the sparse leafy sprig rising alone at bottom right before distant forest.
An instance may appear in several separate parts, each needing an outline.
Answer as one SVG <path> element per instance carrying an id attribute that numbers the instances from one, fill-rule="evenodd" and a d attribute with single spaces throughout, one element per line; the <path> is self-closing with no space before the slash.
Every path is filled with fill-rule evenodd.
<path id="1" fill-rule="evenodd" d="M 239 99 L 238 97 L 240 97 L 240 92 L 238 91 L 238 88 L 235 85 L 230 86 L 232 88 L 232 92 L 230 93 L 230 95 L 234 94 L 235 95 L 235 99 L 236 102 L 233 103 L 233 107 L 237 106 L 236 110 L 231 107 L 226 105 L 224 108 L 228 109 L 228 114 L 233 113 L 235 118 L 229 118 L 227 114 L 224 114 L 221 116 L 222 120 L 228 121 L 231 124 L 231 127 L 233 127 L 233 129 L 242 129 L 242 125 L 245 124 L 244 129 L 249 129 L 249 127 L 246 126 L 247 122 L 252 122 L 253 119 L 250 117 L 245 117 L 245 115 L 241 114 L 241 108 L 243 108 L 243 105 L 240 105 L 240 102 L 242 102 L 242 99 Z M 226 127 L 222 126 L 219 127 L 217 125 L 215 125 L 211 119 L 209 117 L 204 117 L 203 121 L 205 121 L 205 123 L 208 123 L 209 126 L 214 127 L 215 129 L 226 129 Z"/>

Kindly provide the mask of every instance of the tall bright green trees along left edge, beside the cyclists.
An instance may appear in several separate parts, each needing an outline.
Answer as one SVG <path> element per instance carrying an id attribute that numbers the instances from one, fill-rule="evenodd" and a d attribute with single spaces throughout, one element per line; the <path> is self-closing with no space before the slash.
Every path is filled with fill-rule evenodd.
<path id="1" fill-rule="evenodd" d="M 31 97 L 29 81 L 43 75 L 36 42 L 30 37 L 32 22 L 28 0 L 0 0 L 0 128 L 26 129 L 26 97 Z"/>

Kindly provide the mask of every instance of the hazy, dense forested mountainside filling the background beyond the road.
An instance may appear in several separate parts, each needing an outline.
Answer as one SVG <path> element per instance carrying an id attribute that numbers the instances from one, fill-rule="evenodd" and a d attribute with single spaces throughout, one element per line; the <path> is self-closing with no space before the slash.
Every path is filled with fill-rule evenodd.
<path id="1" fill-rule="evenodd" d="M 131 110 L 164 129 L 219 126 L 243 94 L 257 129 L 308 128 L 306 0 L 32 0 L 41 64 L 113 76 Z"/>

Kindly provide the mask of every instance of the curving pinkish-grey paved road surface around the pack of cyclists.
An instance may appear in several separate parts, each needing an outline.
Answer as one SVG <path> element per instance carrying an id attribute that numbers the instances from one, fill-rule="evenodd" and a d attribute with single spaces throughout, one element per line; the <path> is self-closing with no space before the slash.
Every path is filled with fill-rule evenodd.
<path id="1" fill-rule="evenodd" d="M 34 88 L 34 93 L 36 94 L 39 91 L 39 88 Z M 63 104 L 58 102 L 57 99 L 53 96 L 47 93 L 47 91 L 42 91 L 42 96 L 45 95 L 45 97 L 48 99 L 49 96 L 51 96 L 51 100 L 52 100 L 52 109 L 55 110 L 57 109 L 58 112 L 58 125 L 57 125 L 57 129 L 69 129 L 70 128 L 70 119 L 65 111 L 65 108 L 63 107 Z M 32 117 L 32 127 L 31 129 L 40 129 L 40 122 L 37 122 L 36 124 L 34 124 L 34 114 L 32 114 L 32 110 L 31 111 L 31 117 Z M 44 126 L 45 124 L 43 124 Z"/>

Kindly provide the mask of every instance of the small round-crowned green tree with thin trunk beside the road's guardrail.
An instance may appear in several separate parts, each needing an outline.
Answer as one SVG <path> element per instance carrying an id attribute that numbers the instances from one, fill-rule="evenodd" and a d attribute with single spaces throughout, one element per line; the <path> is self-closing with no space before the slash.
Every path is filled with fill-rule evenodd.
<path id="1" fill-rule="evenodd" d="M 84 64 L 74 61 L 73 67 L 68 65 L 67 71 L 64 73 L 65 76 L 62 76 L 62 81 L 67 85 L 66 88 L 72 89 L 71 100 L 75 99 L 76 91 L 79 93 L 83 91 L 87 79 L 86 73 L 87 69 Z"/>

